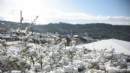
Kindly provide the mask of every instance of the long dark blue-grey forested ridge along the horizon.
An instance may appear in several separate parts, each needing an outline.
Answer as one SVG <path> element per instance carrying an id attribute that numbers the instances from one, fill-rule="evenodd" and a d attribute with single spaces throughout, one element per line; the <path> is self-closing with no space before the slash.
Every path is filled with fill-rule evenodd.
<path id="1" fill-rule="evenodd" d="M 27 27 L 29 23 L 24 23 L 23 29 Z M 0 31 L 8 31 L 9 29 L 18 28 L 18 23 L 10 21 L 0 21 Z M 3 30 L 2 30 L 3 29 Z M 69 23 L 50 23 L 48 25 L 34 25 L 32 27 L 34 32 L 39 33 L 55 33 L 59 34 L 79 34 L 95 38 L 116 38 L 121 40 L 130 41 L 130 25 L 111 25 L 106 23 L 90 23 L 90 24 L 69 24 Z M 31 29 L 30 29 L 31 31 Z"/>

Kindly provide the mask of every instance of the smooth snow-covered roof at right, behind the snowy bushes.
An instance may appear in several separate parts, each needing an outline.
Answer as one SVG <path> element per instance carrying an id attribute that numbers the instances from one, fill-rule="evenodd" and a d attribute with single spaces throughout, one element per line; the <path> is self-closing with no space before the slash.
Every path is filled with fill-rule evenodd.
<path id="1" fill-rule="evenodd" d="M 101 40 L 89 44 L 78 45 L 77 48 L 86 47 L 88 49 L 115 49 L 115 53 L 124 53 L 125 55 L 130 55 L 130 42 L 118 40 L 118 39 L 107 39 Z"/>

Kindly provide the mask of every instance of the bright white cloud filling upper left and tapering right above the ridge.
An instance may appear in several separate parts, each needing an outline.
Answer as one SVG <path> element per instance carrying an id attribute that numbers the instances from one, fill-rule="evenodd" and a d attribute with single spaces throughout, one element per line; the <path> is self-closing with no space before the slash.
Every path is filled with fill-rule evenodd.
<path id="1" fill-rule="evenodd" d="M 56 1 L 56 0 L 55 0 Z M 19 21 L 19 11 L 23 11 L 25 22 L 31 22 L 35 16 L 39 16 L 37 23 L 67 22 L 67 23 L 112 23 L 129 24 L 130 17 L 126 16 L 102 16 L 90 15 L 83 12 L 65 12 L 62 9 L 55 8 L 54 0 L 5 0 L 5 6 L 2 5 L 0 19 Z M 58 3 L 58 0 L 57 0 Z M 3 9 L 2 9 L 3 8 Z"/>

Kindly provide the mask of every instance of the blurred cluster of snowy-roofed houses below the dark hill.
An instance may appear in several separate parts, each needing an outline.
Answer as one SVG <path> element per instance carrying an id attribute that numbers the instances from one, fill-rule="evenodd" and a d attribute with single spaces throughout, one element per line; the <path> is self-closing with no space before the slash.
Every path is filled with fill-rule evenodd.
<path id="1" fill-rule="evenodd" d="M 67 40 L 67 43 L 74 40 L 76 44 L 84 44 L 94 42 L 96 40 L 88 37 L 88 36 L 80 36 L 80 35 L 60 35 L 60 34 L 52 34 L 52 33 L 31 33 L 29 32 L 28 35 L 18 35 L 15 32 L 1 32 L 0 33 L 0 40 L 13 42 L 13 41 L 22 41 L 25 40 L 31 43 L 51 43 L 53 41 L 61 41 L 62 38 Z"/>

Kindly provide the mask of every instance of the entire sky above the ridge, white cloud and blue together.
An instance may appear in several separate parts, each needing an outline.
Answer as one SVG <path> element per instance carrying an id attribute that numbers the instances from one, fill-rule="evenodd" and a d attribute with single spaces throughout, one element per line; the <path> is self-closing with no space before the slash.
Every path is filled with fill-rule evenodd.
<path id="1" fill-rule="evenodd" d="M 130 25 L 130 0 L 0 0 L 0 20 Z"/>

